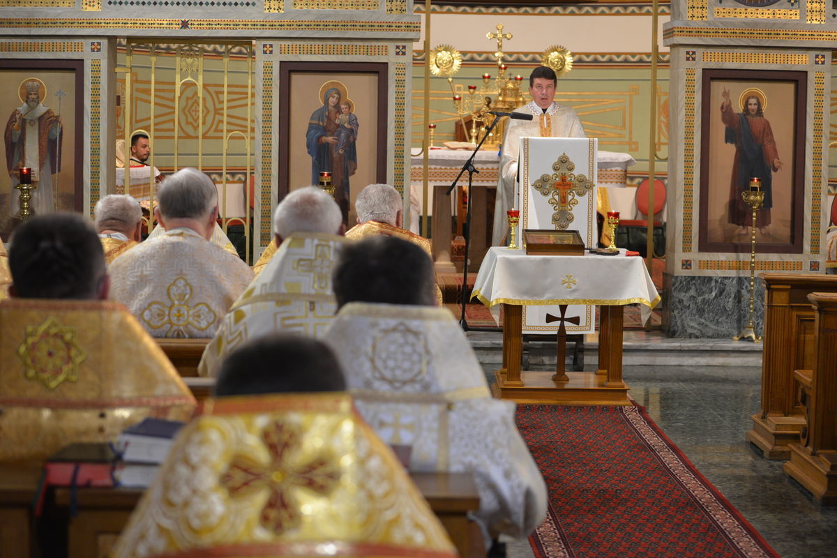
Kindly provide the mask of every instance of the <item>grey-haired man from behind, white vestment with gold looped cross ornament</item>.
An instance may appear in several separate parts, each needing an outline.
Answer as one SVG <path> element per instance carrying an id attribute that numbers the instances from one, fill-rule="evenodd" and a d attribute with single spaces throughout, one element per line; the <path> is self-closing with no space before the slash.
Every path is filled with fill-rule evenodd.
<path id="1" fill-rule="evenodd" d="M 209 243 L 218 191 L 195 169 L 158 189 L 155 218 L 166 228 L 110 264 L 111 296 L 154 337 L 212 337 L 253 279 L 241 259 Z"/>

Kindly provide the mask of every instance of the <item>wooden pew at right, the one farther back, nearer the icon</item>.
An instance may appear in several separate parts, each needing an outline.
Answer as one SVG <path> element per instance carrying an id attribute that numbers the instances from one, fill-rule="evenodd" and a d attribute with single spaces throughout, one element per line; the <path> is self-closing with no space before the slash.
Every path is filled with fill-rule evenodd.
<path id="1" fill-rule="evenodd" d="M 794 370 L 814 362 L 813 292 L 837 293 L 837 277 L 822 274 L 762 274 L 765 285 L 762 409 L 752 415 L 747 442 L 768 459 L 788 459 L 805 424 Z"/>

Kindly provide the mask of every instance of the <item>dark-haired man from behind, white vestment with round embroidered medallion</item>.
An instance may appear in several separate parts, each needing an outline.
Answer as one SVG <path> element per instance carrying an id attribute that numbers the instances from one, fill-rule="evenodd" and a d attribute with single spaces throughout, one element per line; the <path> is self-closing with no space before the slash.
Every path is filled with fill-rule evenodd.
<path id="1" fill-rule="evenodd" d="M 514 403 L 490 397 L 460 326 L 431 306 L 433 277 L 421 248 L 399 238 L 347 245 L 334 272 L 340 311 L 325 340 L 358 411 L 409 456 L 411 471 L 474 475 L 486 545 L 501 534 L 525 537 L 546 514 L 546 486 L 517 432 Z"/>

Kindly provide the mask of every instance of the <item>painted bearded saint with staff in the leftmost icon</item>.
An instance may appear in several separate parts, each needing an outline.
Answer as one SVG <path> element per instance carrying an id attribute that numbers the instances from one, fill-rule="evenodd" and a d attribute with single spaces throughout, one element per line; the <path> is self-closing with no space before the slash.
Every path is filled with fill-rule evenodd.
<path id="1" fill-rule="evenodd" d="M 52 176 L 61 170 L 61 117 L 41 104 L 46 86 L 40 79 L 23 83 L 23 105 L 12 111 L 6 124 L 6 166 L 12 186 L 18 184 L 18 169 L 32 169 L 31 206 L 35 213 L 54 211 Z M 20 200 L 12 190 L 11 214 L 18 212 Z"/>

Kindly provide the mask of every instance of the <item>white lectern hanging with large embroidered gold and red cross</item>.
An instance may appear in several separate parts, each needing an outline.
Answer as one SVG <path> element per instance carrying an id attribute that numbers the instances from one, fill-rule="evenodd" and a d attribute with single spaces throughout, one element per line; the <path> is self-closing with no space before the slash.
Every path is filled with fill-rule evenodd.
<path id="1" fill-rule="evenodd" d="M 576 230 L 585 248 L 598 246 L 596 223 L 596 171 L 598 140 L 562 137 L 521 137 L 518 159 L 519 182 L 515 201 L 520 209 L 517 238 L 526 228 Z M 554 256 L 565 258 L 566 256 Z M 573 275 L 572 269 L 555 281 Z M 573 278 L 578 280 L 578 278 Z M 572 299 L 573 281 L 567 279 L 567 299 Z M 547 324 L 547 314 L 559 315 L 557 306 L 523 307 L 523 333 L 557 332 L 557 323 Z M 570 305 L 567 317 L 578 316 L 578 325 L 567 323 L 568 334 L 593 333 L 593 305 Z"/>

